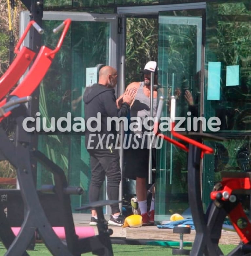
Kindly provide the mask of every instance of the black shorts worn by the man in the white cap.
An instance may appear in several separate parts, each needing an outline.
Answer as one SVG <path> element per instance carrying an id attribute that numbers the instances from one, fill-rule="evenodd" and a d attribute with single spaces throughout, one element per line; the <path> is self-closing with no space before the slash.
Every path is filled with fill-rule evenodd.
<path id="1" fill-rule="evenodd" d="M 124 150 L 124 177 L 136 180 L 136 177 L 148 177 L 149 149 Z M 156 167 L 156 149 L 152 149 L 152 168 Z"/>

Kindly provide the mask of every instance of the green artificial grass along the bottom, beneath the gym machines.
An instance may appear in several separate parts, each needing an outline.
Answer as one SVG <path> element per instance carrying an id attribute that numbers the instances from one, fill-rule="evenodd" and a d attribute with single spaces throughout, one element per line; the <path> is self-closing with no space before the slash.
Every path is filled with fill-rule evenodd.
<path id="1" fill-rule="evenodd" d="M 236 245 L 219 245 L 224 255 L 231 252 Z M 162 246 L 152 246 L 152 245 L 113 245 L 114 256 L 171 256 L 172 248 L 178 247 L 162 247 Z M 184 249 L 190 250 L 191 247 L 184 247 Z M 5 247 L 0 243 L 0 256 L 4 255 L 6 252 Z M 27 251 L 30 256 L 50 256 L 51 253 L 48 251 L 43 243 L 37 243 L 34 251 Z M 90 256 L 90 253 L 85 253 L 81 255 Z M 17 255 L 18 256 L 18 255 Z"/>

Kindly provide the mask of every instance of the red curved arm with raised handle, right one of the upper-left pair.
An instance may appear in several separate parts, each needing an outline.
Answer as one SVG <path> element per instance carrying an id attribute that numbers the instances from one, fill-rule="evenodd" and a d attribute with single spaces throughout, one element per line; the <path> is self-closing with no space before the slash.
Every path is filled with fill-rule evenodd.
<path id="1" fill-rule="evenodd" d="M 50 65 L 56 55 L 60 50 L 65 35 L 70 27 L 71 19 L 66 19 L 64 22 L 64 29 L 59 38 L 58 44 L 54 50 L 42 46 L 40 51 L 34 61 L 32 67 L 30 68 L 28 74 L 25 76 L 24 80 L 13 90 L 10 95 L 15 95 L 19 98 L 31 95 L 35 89 L 38 87 L 42 79 L 44 78 L 46 72 L 50 68 Z M 0 102 L 0 107 L 6 104 L 6 98 Z M 11 114 L 11 111 L 7 112 L 4 116 L 0 117 L 0 122 Z"/>

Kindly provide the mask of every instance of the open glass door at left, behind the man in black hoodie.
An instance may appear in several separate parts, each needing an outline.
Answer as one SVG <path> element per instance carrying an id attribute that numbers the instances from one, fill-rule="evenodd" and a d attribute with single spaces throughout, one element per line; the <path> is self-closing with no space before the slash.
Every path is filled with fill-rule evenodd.
<path id="1" fill-rule="evenodd" d="M 42 127 L 37 134 L 38 150 L 65 171 L 70 186 L 84 189 L 81 196 L 71 197 L 74 212 L 75 208 L 88 204 L 91 177 L 84 131 L 73 129 L 74 118 L 84 117 L 83 92 L 97 81 L 102 64 L 117 68 L 117 15 L 45 11 L 42 45 L 52 49 L 56 46 L 58 35 L 53 34 L 52 29 L 67 18 L 72 20 L 71 28 L 40 85 L 39 115 L 46 118 L 48 127 L 51 118 L 58 120 L 63 117 L 67 125 L 70 122 L 70 130 L 52 133 L 45 132 Z M 26 27 L 28 21 L 29 13 L 23 12 L 22 28 Z M 38 164 L 37 187 L 53 182 L 51 173 Z M 105 191 L 104 185 L 100 199 L 106 198 Z"/>

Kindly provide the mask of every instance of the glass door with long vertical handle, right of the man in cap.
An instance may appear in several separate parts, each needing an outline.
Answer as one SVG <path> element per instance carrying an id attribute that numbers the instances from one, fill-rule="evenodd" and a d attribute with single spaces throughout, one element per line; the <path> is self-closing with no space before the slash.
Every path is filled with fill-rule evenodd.
<path id="1" fill-rule="evenodd" d="M 176 116 L 199 115 L 202 10 L 167 11 L 159 15 L 159 83 L 165 98 L 177 96 Z M 186 100 L 190 93 L 193 102 Z M 190 113 L 188 113 L 190 111 Z M 163 118 L 170 117 L 169 104 Z M 189 130 L 188 122 L 181 125 Z M 171 136 L 167 131 L 164 134 Z M 187 154 L 164 142 L 157 164 L 157 221 L 169 220 L 173 213 L 189 216 Z"/>

